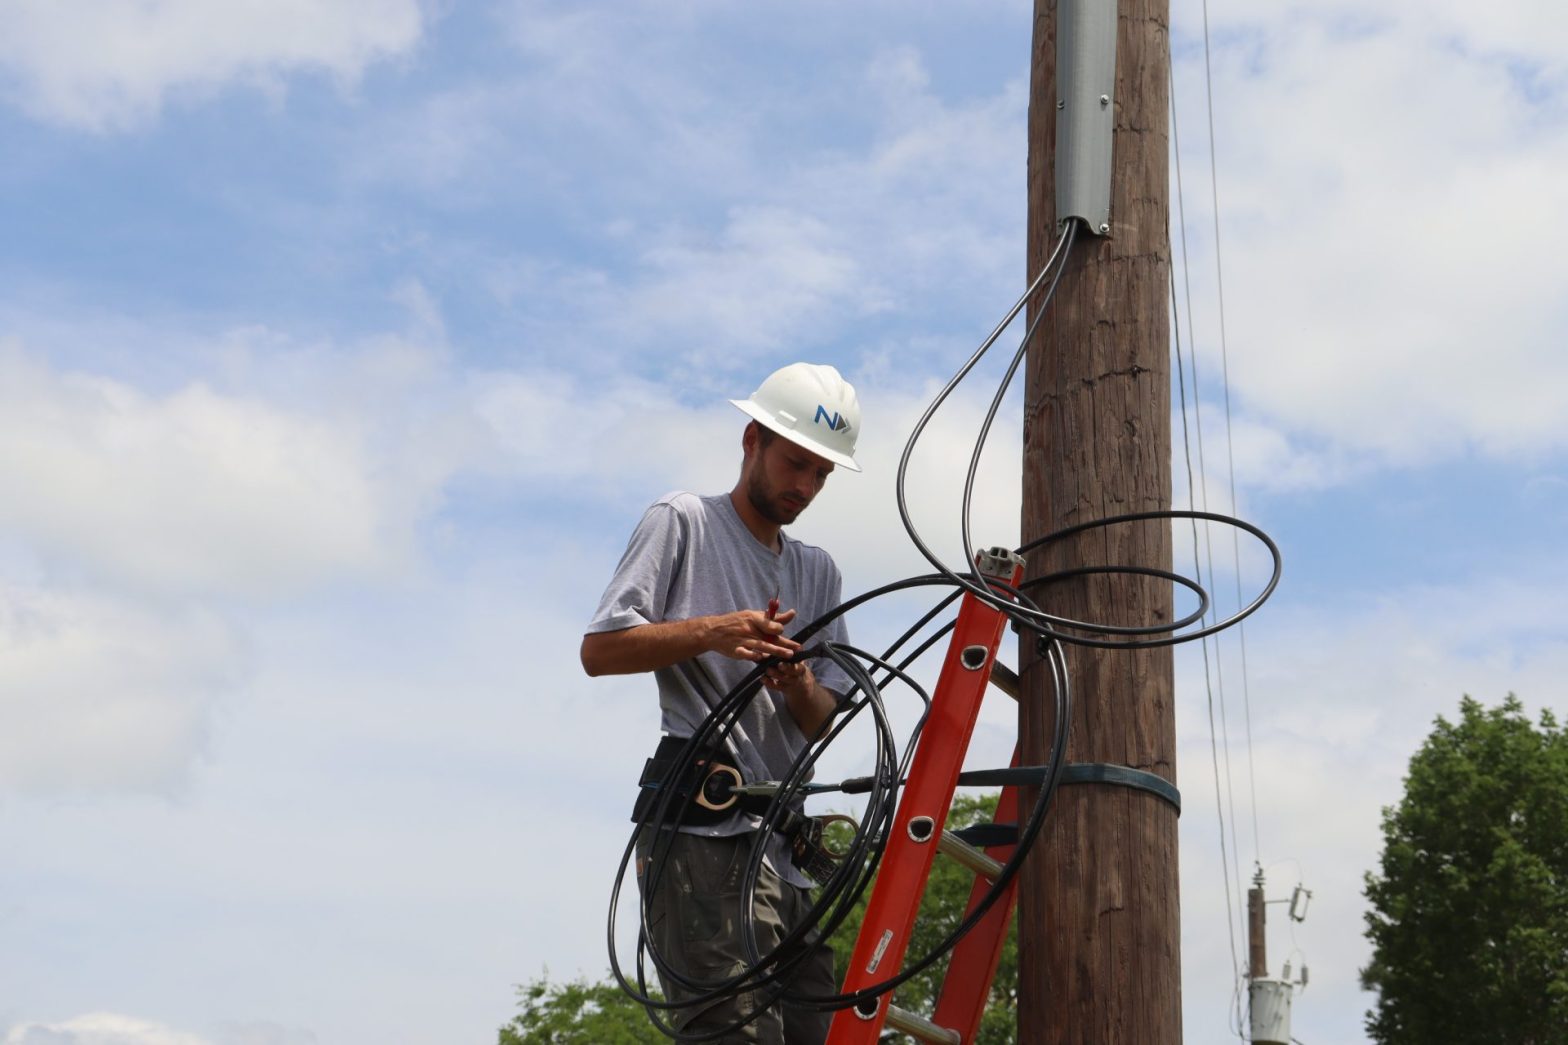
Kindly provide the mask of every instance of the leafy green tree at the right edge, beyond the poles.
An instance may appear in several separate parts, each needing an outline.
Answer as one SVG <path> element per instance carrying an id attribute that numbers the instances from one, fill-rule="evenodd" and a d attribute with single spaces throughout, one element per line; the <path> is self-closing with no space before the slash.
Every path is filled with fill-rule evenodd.
<path id="1" fill-rule="evenodd" d="M 1568 737 L 1466 697 L 1410 759 L 1366 877 L 1377 1042 L 1568 1042 Z"/>

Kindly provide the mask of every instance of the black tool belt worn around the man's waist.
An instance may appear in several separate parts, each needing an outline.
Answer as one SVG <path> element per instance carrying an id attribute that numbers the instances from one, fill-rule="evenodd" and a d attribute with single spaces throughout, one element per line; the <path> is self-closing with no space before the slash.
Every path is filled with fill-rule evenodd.
<path id="1" fill-rule="evenodd" d="M 670 778 L 685 745 L 685 737 L 659 739 L 654 756 L 643 763 L 643 775 L 637 781 L 633 822 L 643 824 L 652 817 L 660 786 Z M 767 796 L 735 794 L 735 788 L 742 783 L 745 778 L 728 752 L 699 750 L 687 770 L 676 778 L 676 792 L 666 807 L 674 819 L 662 825 L 710 827 L 723 824 L 737 813 L 767 816 L 773 800 Z M 822 844 L 822 825 L 820 819 L 795 810 L 784 810 L 778 819 L 778 833 L 790 843 L 790 860 L 817 882 L 826 882 L 839 866 L 833 852 Z"/>

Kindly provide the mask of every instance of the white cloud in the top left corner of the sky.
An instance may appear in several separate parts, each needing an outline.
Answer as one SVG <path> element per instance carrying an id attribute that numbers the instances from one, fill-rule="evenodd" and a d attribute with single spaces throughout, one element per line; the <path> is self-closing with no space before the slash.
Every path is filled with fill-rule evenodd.
<path id="1" fill-rule="evenodd" d="M 171 96 L 284 75 L 356 80 L 419 42 L 419 0 L 8 0 L 0 36 L 6 94 L 39 119 L 118 130 Z M 6 83 L 8 82 L 8 83 Z"/>

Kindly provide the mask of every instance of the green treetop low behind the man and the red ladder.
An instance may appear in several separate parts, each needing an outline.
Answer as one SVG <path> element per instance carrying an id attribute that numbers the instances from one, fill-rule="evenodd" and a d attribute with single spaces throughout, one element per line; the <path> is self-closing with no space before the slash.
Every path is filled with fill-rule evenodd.
<path id="1" fill-rule="evenodd" d="M 953 799 L 947 817 L 949 828 L 963 828 L 989 821 L 996 810 L 996 794 Z M 925 902 L 909 941 L 909 956 L 928 952 L 963 918 L 969 901 L 967 871 L 952 860 L 938 860 L 927 880 Z M 833 935 L 833 949 L 842 965 L 855 946 L 861 915 L 866 913 L 867 888 L 858 908 Z M 930 1015 L 936 1007 L 946 959 L 895 992 L 895 1001 L 913 1012 Z M 547 976 L 517 989 L 519 1015 L 500 1029 L 499 1045 L 640 1045 L 665 1040 L 648 1021 L 640 1004 L 627 998 L 613 979 L 590 984 L 579 979 L 552 984 Z M 978 1045 L 1010 1045 L 1018 1021 L 1018 934 L 1008 932 L 991 985 L 991 999 L 980 1025 Z M 902 1037 L 902 1036 L 889 1036 Z M 905 1039 L 906 1040 L 906 1039 Z"/>

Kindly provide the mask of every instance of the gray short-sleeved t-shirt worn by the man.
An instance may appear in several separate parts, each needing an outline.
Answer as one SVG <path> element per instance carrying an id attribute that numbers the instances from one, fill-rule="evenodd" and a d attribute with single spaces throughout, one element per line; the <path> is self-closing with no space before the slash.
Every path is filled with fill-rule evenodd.
<path id="1" fill-rule="evenodd" d="M 782 532 L 779 543 L 782 551 L 775 552 L 753 537 L 728 493 L 666 494 L 643 513 L 586 631 L 622 631 L 655 621 L 767 609 L 776 593 L 781 610 L 797 610 L 795 620 L 784 628 L 784 634 L 793 635 L 842 601 L 844 584 L 823 549 Z M 844 618 L 817 632 L 808 645 L 818 639 L 848 642 Z M 696 733 L 709 711 L 754 667 L 748 661 L 704 653 L 654 672 L 663 731 L 677 737 Z M 817 657 L 811 670 L 822 686 L 840 697 L 850 690 L 848 676 L 831 661 Z M 784 697 L 762 689 L 729 734 L 729 747 L 748 781 L 781 780 L 806 747 L 806 737 Z M 735 835 L 750 827 L 737 816 L 688 830 Z M 787 860 L 770 863 L 795 885 L 808 885 Z"/>

